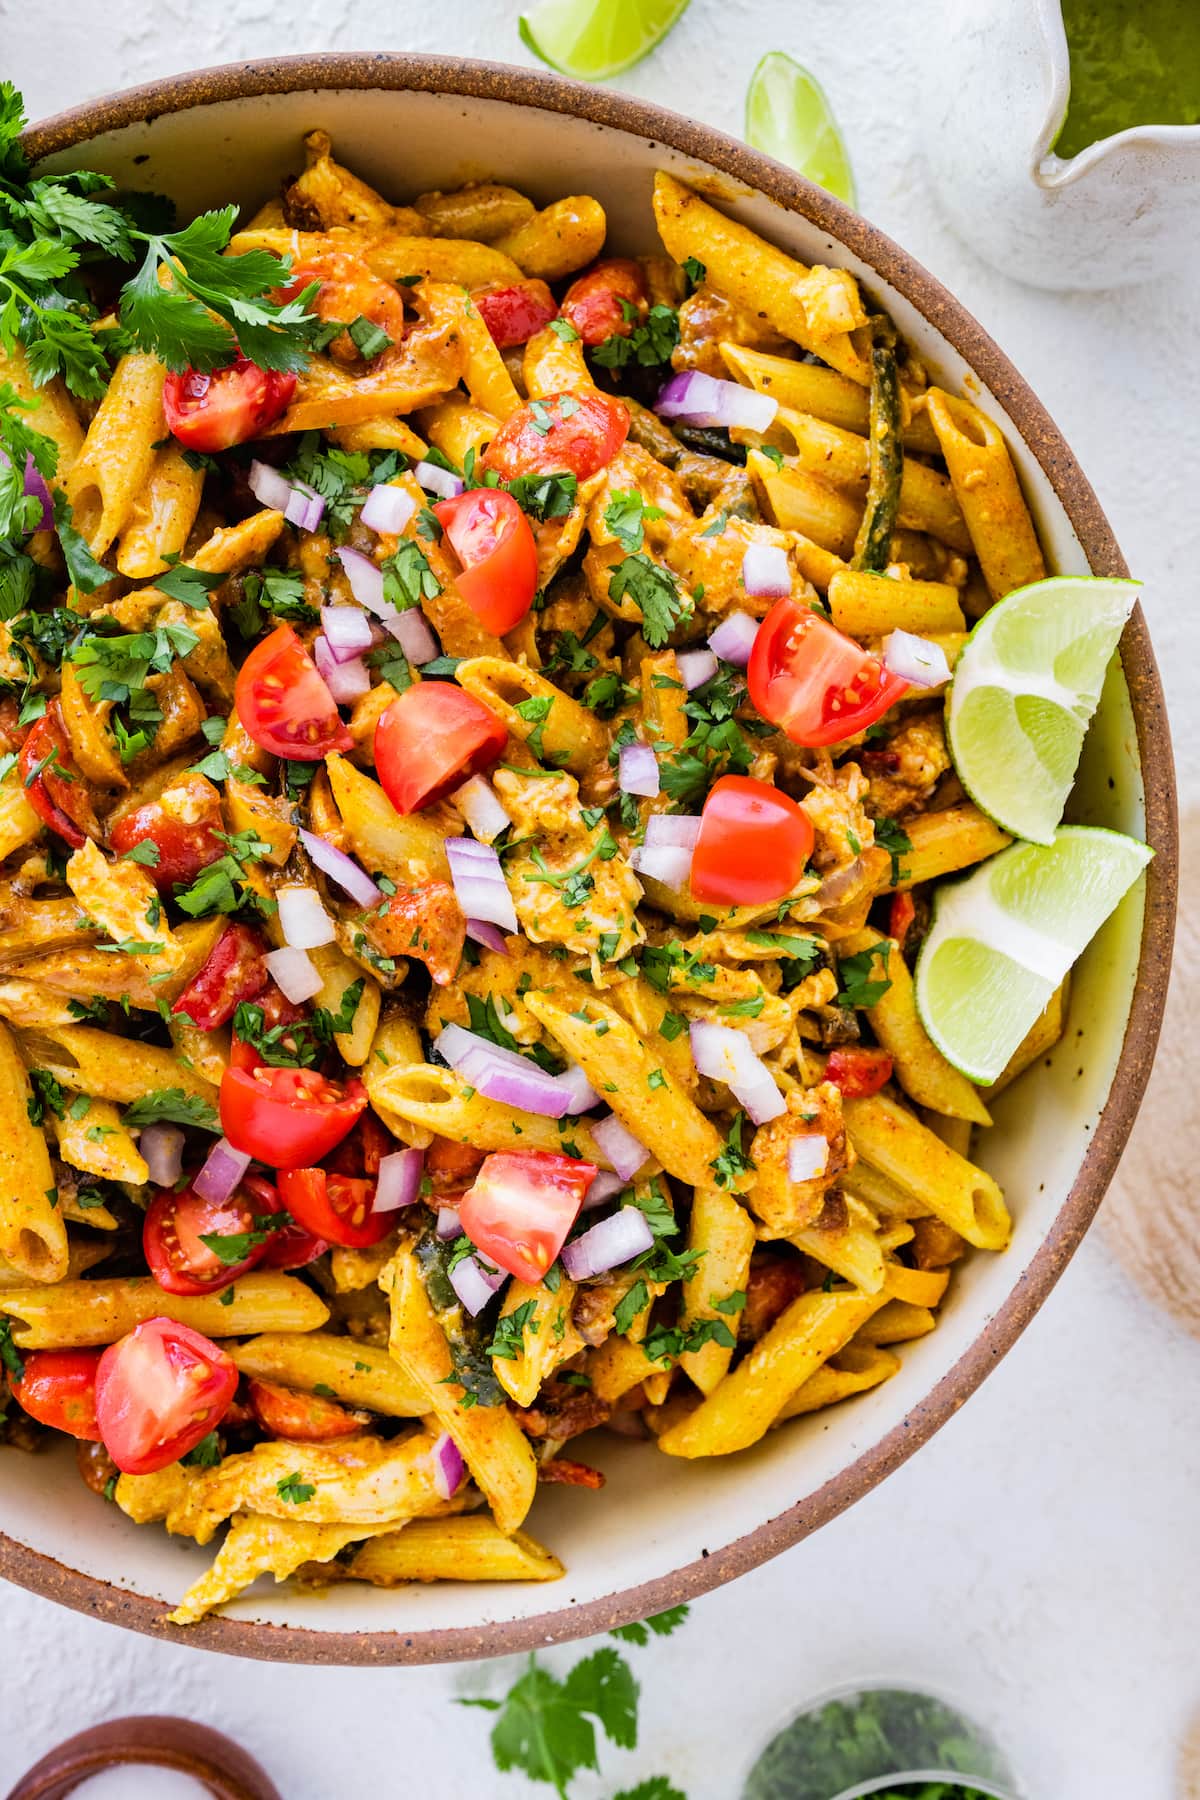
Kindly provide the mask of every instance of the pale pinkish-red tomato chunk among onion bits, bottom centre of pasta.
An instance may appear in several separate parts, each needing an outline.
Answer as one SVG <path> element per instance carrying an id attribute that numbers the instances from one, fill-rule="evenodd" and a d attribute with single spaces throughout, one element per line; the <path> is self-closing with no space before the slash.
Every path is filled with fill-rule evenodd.
<path id="1" fill-rule="evenodd" d="M 497 1150 L 459 1201 L 462 1229 L 497 1269 L 540 1282 L 596 1174 L 596 1163 L 554 1150 Z"/>

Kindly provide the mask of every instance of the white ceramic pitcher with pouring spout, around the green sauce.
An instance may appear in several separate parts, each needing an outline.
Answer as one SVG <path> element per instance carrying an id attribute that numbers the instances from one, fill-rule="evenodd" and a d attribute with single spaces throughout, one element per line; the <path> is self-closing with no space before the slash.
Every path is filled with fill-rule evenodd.
<path id="1" fill-rule="evenodd" d="M 1114 288 L 1200 259 L 1200 126 L 1139 124 L 1052 153 L 1070 94 L 1060 0 L 945 0 L 943 32 L 925 153 L 986 261 L 1038 288 Z"/>

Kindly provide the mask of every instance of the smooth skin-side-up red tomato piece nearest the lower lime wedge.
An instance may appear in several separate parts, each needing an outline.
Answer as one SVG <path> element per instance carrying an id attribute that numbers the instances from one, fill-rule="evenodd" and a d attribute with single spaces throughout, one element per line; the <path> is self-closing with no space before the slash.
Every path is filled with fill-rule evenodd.
<path id="1" fill-rule="evenodd" d="M 691 891 L 718 905 L 765 905 L 790 895 L 813 848 L 802 806 L 754 776 L 721 776 L 700 814 Z"/>

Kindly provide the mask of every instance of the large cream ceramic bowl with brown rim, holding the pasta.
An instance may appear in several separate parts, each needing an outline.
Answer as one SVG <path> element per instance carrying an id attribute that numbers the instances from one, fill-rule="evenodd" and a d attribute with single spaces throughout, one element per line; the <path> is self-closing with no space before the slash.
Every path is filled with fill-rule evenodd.
<path id="1" fill-rule="evenodd" d="M 184 212 L 257 205 L 324 126 L 338 155 L 401 198 L 498 176 L 542 202 L 597 194 L 612 243 L 655 243 L 651 176 L 667 167 L 806 261 L 851 268 L 921 358 L 1000 421 L 1060 571 L 1124 574 L 1121 551 L 1070 450 L 975 320 L 903 250 L 826 193 L 741 144 L 606 90 L 524 70 L 417 56 L 282 58 L 182 76 L 63 113 L 27 139 L 47 167 L 99 167 L 160 189 Z M 612 1436 L 588 1451 L 601 1494 L 549 1489 L 533 1530 L 567 1564 L 554 1586 L 354 1584 L 313 1595 L 252 1589 L 187 1631 L 162 1624 L 207 1566 L 160 1530 L 99 1507 L 70 1458 L 7 1454 L 0 1573 L 137 1631 L 243 1656 L 437 1661 L 574 1638 L 689 1600 L 824 1525 L 896 1469 L 963 1404 L 1061 1274 L 1126 1141 L 1155 1049 L 1175 889 L 1175 796 L 1162 691 L 1141 612 L 1121 641 L 1088 736 L 1079 819 L 1144 835 L 1146 891 L 1087 952 L 1070 1028 L 1036 1078 L 1000 1102 L 982 1157 L 1016 1219 L 1004 1256 L 955 1276 L 945 1323 L 903 1370 L 851 1406 L 774 1433 L 756 1451 L 685 1463 Z"/>

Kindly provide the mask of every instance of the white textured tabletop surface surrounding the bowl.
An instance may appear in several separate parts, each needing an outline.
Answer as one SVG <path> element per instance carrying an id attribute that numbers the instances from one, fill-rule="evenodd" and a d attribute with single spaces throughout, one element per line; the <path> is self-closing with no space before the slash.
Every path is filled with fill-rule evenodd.
<path id="1" fill-rule="evenodd" d="M 527 61 L 516 11 L 513 0 L 387 9 L 110 0 L 97 13 L 90 0 L 59 0 L 52 13 L 9 13 L 0 72 L 36 117 L 171 70 L 275 50 L 453 49 Z M 909 126 L 936 79 L 937 11 L 937 0 L 903 9 L 693 0 L 626 86 L 736 131 L 763 50 L 788 49 L 820 76 L 864 211 L 1009 351 L 1146 578 L 1187 817 L 1200 785 L 1196 284 L 1038 293 L 984 268 L 943 229 Z M 1177 983 L 1175 1044 L 1123 1168 L 1124 1197 L 1182 1183 L 1195 1058 L 1178 1044 L 1195 1010 Z M 579 1784 L 579 1795 L 669 1769 L 689 1800 L 727 1800 L 750 1750 L 795 1703 L 885 1672 L 959 1692 L 1009 1746 L 1034 1800 L 1171 1800 L 1175 1746 L 1200 1705 L 1198 1424 L 1200 1348 L 1135 1296 L 1092 1237 L 999 1373 L 919 1458 L 808 1544 L 700 1602 L 671 1642 L 630 1652 L 644 1683 L 644 1748 L 608 1757 L 610 1778 Z M 83 1724 L 171 1710 L 241 1737 L 286 1800 L 522 1791 L 491 1769 L 486 1717 L 452 1706 L 455 1694 L 497 1692 L 507 1679 L 500 1665 L 236 1663 L 117 1633 L 11 1588 L 0 1589 L 0 1784 Z"/>

